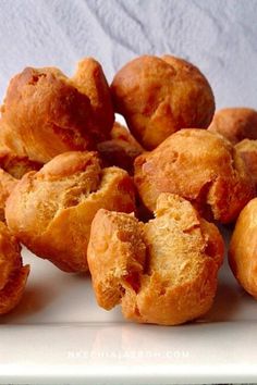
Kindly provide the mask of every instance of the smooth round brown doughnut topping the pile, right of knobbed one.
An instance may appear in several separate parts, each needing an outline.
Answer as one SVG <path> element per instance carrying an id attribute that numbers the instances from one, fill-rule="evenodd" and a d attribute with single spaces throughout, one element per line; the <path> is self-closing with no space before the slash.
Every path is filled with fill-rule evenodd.
<path id="1" fill-rule="evenodd" d="M 123 66 L 111 85 L 114 109 L 147 150 L 183 127 L 207 128 L 215 98 L 200 71 L 185 60 L 144 55 Z"/>

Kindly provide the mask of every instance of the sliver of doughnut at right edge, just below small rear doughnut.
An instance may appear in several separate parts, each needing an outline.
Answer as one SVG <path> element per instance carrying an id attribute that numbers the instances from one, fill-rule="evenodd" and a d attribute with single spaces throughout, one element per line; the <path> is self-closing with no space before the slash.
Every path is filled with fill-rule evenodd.
<path id="1" fill-rule="evenodd" d="M 235 145 L 250 174 L 257 191 L 257 140 L 244 139 Z"/>

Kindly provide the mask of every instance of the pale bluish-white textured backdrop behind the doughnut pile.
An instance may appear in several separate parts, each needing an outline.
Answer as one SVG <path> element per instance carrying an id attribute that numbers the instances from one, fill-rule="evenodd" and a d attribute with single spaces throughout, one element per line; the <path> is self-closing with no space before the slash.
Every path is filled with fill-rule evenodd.
<path id="1" fill-rule="evenodd" d="M 24 66 L 68 75 L 95 57 L 111 82 L 130 59 L 172 53 L 208 77 L 217 107 L 257 108 L 257 0 L 0 0 L 0 97 Z"/>

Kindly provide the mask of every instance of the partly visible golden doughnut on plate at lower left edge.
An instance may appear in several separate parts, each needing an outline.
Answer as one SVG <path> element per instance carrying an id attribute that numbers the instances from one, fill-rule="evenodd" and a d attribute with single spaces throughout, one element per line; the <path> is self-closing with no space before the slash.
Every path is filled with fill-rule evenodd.
<path id="1" fill-rule="evenodd" d="M 11 311 L 22 298 L 29 265 L 23 266 L 21 246 L 0 222 L 0 314 Z"/>

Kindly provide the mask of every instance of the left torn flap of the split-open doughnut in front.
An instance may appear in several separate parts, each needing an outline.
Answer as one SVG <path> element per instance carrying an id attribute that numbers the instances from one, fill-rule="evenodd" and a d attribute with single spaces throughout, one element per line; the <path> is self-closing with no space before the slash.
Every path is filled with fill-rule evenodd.
<path id="1" fill-rule="evenodd" d="M 136 293 L 139 289 L 146 248 L 143 225 L 135 216 L 105 211 L 100 218 L 91 240 L 95 251 L 89 262 L 97 272 L 95 286 L 100 293 L 100 302 L 111 309 L 120 302 L 126 289 Z"/>

